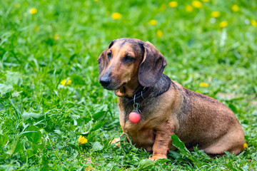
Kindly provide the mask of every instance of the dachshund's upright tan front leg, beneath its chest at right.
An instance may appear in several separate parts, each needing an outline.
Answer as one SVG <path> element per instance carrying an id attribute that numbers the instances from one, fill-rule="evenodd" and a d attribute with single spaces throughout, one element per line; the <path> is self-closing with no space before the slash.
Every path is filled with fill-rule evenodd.
<path id="1" fill-rule="evenodd" d="M 161 158 L 167 158 L 167 153 L 171 147 L 171 138 L 173 135 L 173 128 L 171 125 L 163 125 L 163 127 L 156 130 L 156 138 L 153 143 L 153 157 L 149 159 L 155 161 Z"/>

